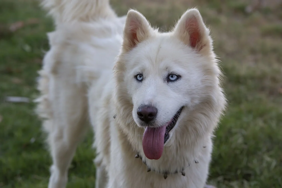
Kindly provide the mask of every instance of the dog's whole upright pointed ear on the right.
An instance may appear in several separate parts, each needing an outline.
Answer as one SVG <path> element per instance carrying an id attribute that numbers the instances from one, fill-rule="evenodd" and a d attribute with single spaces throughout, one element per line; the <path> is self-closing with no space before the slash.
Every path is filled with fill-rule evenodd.
<path id="1" fill-rule="evenodd" d="M 187 10 L 175 26 L 174 32 L 184 44 L 197 51 L 211 48 L 210 32 L 197 9 Z"/>

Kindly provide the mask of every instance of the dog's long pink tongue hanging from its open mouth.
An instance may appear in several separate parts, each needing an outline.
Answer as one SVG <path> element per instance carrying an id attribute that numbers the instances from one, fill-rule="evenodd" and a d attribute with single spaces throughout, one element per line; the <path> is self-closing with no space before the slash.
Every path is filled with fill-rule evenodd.
<path id="1" fill-rule="evenodd" d="M 146 127 L 143 135 L 143 151 L 148 159 L 159 159 L 164 149 L 166 126 L 158 128 Z"/>

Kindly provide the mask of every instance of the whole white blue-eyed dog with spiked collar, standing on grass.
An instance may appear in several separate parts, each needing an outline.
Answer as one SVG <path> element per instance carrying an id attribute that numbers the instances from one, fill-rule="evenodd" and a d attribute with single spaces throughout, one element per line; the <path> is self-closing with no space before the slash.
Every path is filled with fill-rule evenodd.
<path id="1" fill-rule="evenodd" d="M 39 71 L 37 113 L 64 188 L 90 118 L 96 187 L 203 188 L 225 108 L 221 72 L 198 10 L 159 33 L 109 0 L 43 0 L 56 23 Z"/>

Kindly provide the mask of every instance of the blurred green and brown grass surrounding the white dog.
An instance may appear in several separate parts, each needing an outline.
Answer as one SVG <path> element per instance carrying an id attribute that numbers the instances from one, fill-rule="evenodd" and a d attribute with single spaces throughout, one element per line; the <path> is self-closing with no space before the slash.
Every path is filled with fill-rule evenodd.
<path id="1" fill-rule="evenodd" d="M 229 104 L 216 131 L 209 183 L 282 187 L 282 6 L 270 0 L 247 14 L 243 0 L 171 2 L 114 0 L 113 7 L 119 15 L 136 8 L 152 25 L 168 30 L 186 8 L 197 6 L 211 28 Z M 4 98 L 36 96 L 36 71 L 49 48 L 52 20 L 34 0 L 1 0 L 0 12 L 0 187 L 47 187 L 51 159 L 34 104 Z M 30 18 L 38 23 L 8 31 Z M 68 188 L 94 187 L 91 144 L 89 133 L 72 162 Z"/>

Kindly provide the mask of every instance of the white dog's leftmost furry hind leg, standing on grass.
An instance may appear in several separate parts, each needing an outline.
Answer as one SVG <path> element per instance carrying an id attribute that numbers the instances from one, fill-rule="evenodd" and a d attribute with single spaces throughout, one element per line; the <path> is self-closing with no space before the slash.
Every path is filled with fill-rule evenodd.
<path id="1" fill-rule="evenodd" d="M 87 99 L 84 89 L 68 81 L 54 80 L 51 86 L 52 118 L 44 122 L 53 160 L 48 188 L 64 188 L 76 147 L 88 128 Z"/>

